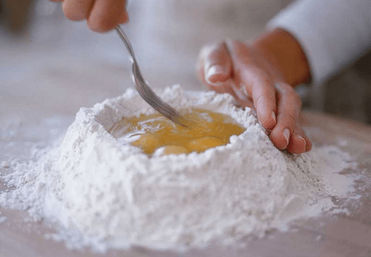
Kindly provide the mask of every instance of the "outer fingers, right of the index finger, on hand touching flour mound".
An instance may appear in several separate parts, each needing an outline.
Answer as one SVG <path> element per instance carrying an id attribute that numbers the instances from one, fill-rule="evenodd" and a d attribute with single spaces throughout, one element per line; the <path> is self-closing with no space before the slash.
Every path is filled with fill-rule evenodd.
<path id="1" fill-rule="evenodd" d="M 311 148 L 310 140 L 305 136 L 299 124 L 301 109 L 300 97 L 286 83 L 277 83 L 277 125 L 270 134 L 273 144 L 291 153 L 303 153 Z"/>

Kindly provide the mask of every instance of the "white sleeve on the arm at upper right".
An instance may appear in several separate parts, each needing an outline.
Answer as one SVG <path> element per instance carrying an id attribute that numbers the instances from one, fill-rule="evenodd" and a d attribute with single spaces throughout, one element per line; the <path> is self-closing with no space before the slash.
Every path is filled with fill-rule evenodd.
<path id="1" fill-rule="evenodd" d="M 301 44 L 318 84 L 371 48 L 371 0 L 299 0 L 274 17 Z"/>

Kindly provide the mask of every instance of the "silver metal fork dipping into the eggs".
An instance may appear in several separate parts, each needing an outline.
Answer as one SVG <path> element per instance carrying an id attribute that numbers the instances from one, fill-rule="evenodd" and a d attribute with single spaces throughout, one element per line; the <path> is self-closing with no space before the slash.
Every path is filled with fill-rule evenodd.
<path id="1" fill-rule="evenodd" d="M 120 25 L 115 27 L 117 33 L 119 34 L 120 38 L 124 42 L 131 58 L 132 62 L 132 73 L 133 73 L 133 80 L 135 84 L 135 88 L 137 89 L 139 95 L 146 101 L 150 106 L 152 106 L 155 110 L 159 113 L 164 115 L 166 118 L 172 120 L 175 123 L 178 123 L 182 126 L 185 126 L 184 119 L 182 116 L 170 105 L 163 102 L 160 97 L 158 97 L 155 92 L 148 86 L 147 82 L 144 80 L 142 73 L 140 72 L 138 62 L 135 58 L 133 47 L 129 41 L 128 36 L 125 32 L 121 29 Z"/>

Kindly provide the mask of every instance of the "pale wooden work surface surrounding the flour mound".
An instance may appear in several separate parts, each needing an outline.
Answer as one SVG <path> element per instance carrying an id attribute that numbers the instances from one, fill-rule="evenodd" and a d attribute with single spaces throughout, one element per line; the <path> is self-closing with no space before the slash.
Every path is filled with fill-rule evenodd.
<path id="1" fill-rule="evenodd" d="M 121 54 L 121 45 L 116 46 L 118 50 L 111 55 L 104 53 L 98 58 L 96 49 L 107 46 L 104 42 L 100 44 L 90 46 L 86 54 L 76 48 L 58 54 L 54 47 L 45 50 L 37 44 L 23 50 L 22 54 L 11 44 L 7 52 L 0 49 L 2 58 L 7 60 L 0 69 L 0 163 L 27 159 L 35 144 L 43 146 L 62 135 L 79 107 L 117 96 L 124 87 L 131 86 L 129 74 L 122 67 L 127 65 L 126 59 L 114 54 Z M 64 45 L 69 46 L 67 42 Z M 45 52 L 53 54 L 40 54 Z M 95 56 L 90 55 L 92 52 Z M 177 82 L 164 81 L 165 78 L 158 74 L 146 78 L 152 85 L 159 85 L 159 81 L 162 85 Z M 182 86 L 201 89 L 193 77 Z M 371 127 L 310 112 L 305 113 L 304 122 L 315 144 L 338 145 L 358 162 L 357 174 L 363 176 L 357 183 L 361 198 L 350 203 L 349 215 L 324 215 L 298 221 L 288 232 L 272 231 L 264 238 L 249 240 L 241 249 L 211 246 L 179 254 L 134 248 L 108 252 L 105 256 L 370 257 Z M 9 170 L 0 168 L 0 172 Z M 0 190 L 3 189 L 0 184 Z M 0 216 L 7 217 L 0 223 L 1 257 L 101 256 L 89 251 L 70 251 L 61 242 L 45 239 L 45 234 L 53 230 L 42 223 L 24 222 L 26 212 L 0 211 Z"/>

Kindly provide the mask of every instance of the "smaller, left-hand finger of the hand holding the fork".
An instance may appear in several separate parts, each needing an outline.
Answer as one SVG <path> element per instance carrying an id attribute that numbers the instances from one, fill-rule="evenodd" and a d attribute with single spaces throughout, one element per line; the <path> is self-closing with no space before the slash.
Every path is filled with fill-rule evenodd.
<path id="1" fill-rule="evenodd" d="M 64 15 L 73 21 L 85 20 L 89 17 L 94 0 L 64 0 Z"/>

